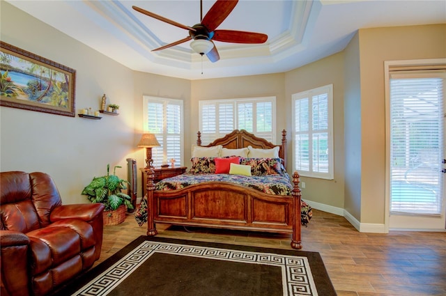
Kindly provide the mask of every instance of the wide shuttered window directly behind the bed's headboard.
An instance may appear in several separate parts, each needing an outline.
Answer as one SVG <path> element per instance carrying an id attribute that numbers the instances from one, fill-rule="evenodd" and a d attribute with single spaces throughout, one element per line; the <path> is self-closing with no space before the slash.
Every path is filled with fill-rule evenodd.
<path id="1" fill-rule="evenodd" d="M 238 129 L 274 143 L 275 105 L 275 97 L 202 100 L 199 102 L 201 142 L 206 145 Z"/>

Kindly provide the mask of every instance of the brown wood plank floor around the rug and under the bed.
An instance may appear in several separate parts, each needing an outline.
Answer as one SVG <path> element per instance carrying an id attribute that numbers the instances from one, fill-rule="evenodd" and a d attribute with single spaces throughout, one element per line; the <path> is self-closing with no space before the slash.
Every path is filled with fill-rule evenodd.
<path id="1" fill-rule="evenodd" d="M 160 237 L 291 249 L 290 235 L 206 228 L 187 232 L 162 224 L 157 229 Z M 105 226 L 98 263 L 139 235 L 146 235 L 146 224 L 139 227 L 131 214 L 122 224 Z M 302 244 L 304 251 L 321 254 L 339 296 L 446 295 L 446 233 L 359 233 L 344 217 L 314 210 L 302 229 Z"/>

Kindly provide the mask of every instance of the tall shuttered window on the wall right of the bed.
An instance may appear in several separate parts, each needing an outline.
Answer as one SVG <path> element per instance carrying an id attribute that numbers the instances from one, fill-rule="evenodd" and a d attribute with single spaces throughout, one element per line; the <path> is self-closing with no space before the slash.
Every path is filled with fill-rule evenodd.
<path id="1" fill-rule="evenodd" d="M 295 93 L 292 102 L 294 169 L 333 179 L 333 85 Z"/>

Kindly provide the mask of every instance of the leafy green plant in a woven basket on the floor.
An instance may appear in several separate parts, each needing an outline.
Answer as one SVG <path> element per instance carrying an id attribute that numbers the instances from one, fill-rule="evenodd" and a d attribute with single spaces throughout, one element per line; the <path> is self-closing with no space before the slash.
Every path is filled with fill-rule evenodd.
<path id="1" fill-rule="evenodd" d="M 128 181 L 116 176 L 116 168 L 121 168 L 121 166 L 115 166 L 113 175 L 110 175 L 110 164 L 107 164 L 107 176 L 94 177 L 90 184 L 82 190 L 82 194 L 86 195 L 92 203 L 105 205 L 105 225 L 121 223 L 125 219 L 126 208 L 133 208 L 132 198 L 121 192 L 121 189 L 127 189 L 125 184 Z M 107 224 L 106 220 L 112 221 Z"/>

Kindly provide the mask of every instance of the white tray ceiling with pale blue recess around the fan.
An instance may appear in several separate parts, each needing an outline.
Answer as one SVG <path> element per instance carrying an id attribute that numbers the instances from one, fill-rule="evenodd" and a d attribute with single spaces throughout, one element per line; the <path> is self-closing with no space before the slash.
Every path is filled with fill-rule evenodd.
<path id="1" fill-rule="evenodd" d="M 8 2 L 132 70 L 185 79 L 286 72 L 341 51 L 357 29 L 446 23 L 444 0 L 240 0 L 218 29 L 266 33 L 268 40 L 261 45 L 215 41 L 220 61 L 210 63 L 192 52 L 190 41 L 151 52 L 188 31 L 132 9 L 193 26 L 200 21 L 199 0 Z M 203 0 L 203 16 L 213 3 Z"/>

